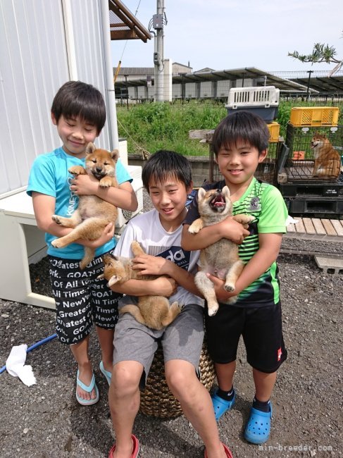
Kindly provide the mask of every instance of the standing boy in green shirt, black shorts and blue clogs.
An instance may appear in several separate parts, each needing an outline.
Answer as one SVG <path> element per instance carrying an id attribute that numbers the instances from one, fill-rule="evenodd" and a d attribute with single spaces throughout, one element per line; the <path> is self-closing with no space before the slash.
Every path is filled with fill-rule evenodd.
<path id="1" fill-rule="evenodd" d="M 276 264 L 282 233 L 286 232 L 287 209 L 279 190 L 254 178 L 258 163 L 266 158 L 268 139 L 266 123 L 247 111 L 228 115 L 213 134 L 216 163 L 224 180 L 204 187 L 223 189 L 227 185 L 233 214 L 247 213 L 256 218 L 249 226 L 250 232 L 237 233 L 238 223 L 227 218 L 190 234 L 189 225 L 199 218 L 197 198 L 189 208 L 182 231 L 185 249 L 202 249 L 223 237 L 241 244 L 239 257 L 246 265 L 236 282 L 235 292 L 226 292 L 223 280 L 208 274 L 221 304 L 215 316 L 205 313 L 205 323 L 208 351 L 215 362 L 219 387 L 212 397 L 217 420 L 235 404 L 232 380 L 239 338 L 242 335 L 244 339 L 255 384 L 244 437 L 254 444 L 266 442 L 270 435 L 270 396 L 277 369 L 287 358 Z M 234 305 L 224 304 L 237 294 Z"/>

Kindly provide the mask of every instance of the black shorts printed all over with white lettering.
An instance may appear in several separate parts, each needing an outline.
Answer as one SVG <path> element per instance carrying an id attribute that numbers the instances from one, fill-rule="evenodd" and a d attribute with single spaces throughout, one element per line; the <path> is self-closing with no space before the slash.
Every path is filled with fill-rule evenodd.
<path id="1" fill-rule="evenodd" d="M 118 299 L 122 295 L 98 279 L 103 273 L 102 256 L 84 269 L 80 260 L 49 256 L 50 280 L 56 304 L 56 334 L 60 342 L 75 344 L 96 326 L 114 329 L 118 321 Z"/>

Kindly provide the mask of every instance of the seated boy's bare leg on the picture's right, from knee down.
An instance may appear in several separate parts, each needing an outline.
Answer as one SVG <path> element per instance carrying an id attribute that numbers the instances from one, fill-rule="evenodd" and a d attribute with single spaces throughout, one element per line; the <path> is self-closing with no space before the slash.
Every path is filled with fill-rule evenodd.
<path id="1" fill-rule="evenodd" d="M 186 418 L 203 440 L 208 458 L 225 458 L 211 396 L 198 380 L 194 366 L 181 359 L 167 361 L 166 380 Z"/>

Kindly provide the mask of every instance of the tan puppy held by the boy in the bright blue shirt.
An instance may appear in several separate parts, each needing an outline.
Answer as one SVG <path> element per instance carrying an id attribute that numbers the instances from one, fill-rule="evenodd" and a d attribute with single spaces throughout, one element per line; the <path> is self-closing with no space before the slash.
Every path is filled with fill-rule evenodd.
<path id="1" fill-rule="evenodd" d="M 105 149 L 96 149 L 93 143 L 87 144 L 86 168 L 73 166 L 68 170 L 72 175 L 94 175 L 99 180 L 101 187 L 118 187 L 116 180 L 116 162 L 118 149 L 111 153 Z M 73 230 L 63 237 L 51 242 L 56 248 L 63 248 L 78 239 L 96 240 L 101 236 L 108 223 L 115 223 L 118 215 L 117 207 L 94 195 L 80 195 L 79 205 L 73 216 L 65 218 L 53 215 L 52 219 L 57 224 Z M 85 247 L 85 256 L 80 262 L 80 268 L 85 268 L 94 258 L 95 249 Z"/>

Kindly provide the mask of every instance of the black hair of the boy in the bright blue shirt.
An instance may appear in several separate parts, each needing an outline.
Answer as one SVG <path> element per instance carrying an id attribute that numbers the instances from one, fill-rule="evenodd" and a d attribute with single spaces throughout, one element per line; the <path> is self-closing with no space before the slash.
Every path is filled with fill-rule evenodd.
<path id="1" fill-rule="evenodd" d="M 58 123 L 65 118 L 80 118 L 96 126 L 99 135 L 106 121 L 106 106 L 101 92 L 82 81 L 68 81 L 58 89 L 51 105 L 51 113 Z"/>

